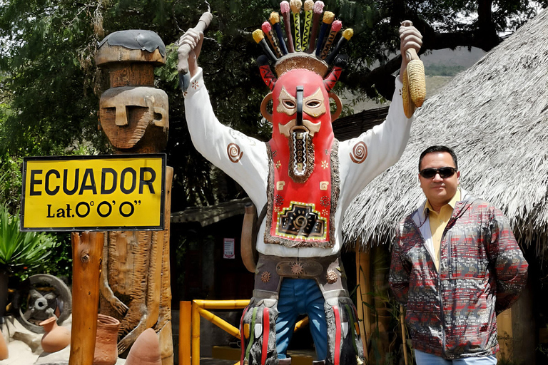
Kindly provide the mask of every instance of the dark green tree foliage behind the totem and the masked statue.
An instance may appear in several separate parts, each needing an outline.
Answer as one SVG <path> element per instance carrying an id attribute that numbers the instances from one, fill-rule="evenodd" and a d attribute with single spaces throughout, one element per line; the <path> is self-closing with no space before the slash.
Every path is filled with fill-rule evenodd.
<path id="1" fill-rule="evenodd" d="M 397 28 L 410 19 L 424 35 L 422 51 L 457 46 L 496 46 L 548 0 L 325 0 L 355 36 L 345 52 L 350 65 L 338 88 L 370 98 L 392 95 L 400 58 Z M 279 9 L 278 0 L 210 0 L 214 18 L 201 55 L 213 108 L 222 123 L 260 140 L 270 128 L 260 121 L 267 89 L 255 59 L 262 53 L 250 33 Z M 194 150 L 177 88 L 176 41 L 207 9 L 203 0 L 3 0 L 0 1 L 1 171 L 26 155 L 81 150 L 108 153 L 97 130 L 98 96 L 106 76 L 93 57 L 98 41 L 123 29 L 156 31 L 168 46 L 168 65 L 158 68 L 158 87 L 170 100 L 168 163 L 176 169 L 173 210 L 210 205 L 243 194 Z M 377 63 L 375 63 L 377 61 Z M 372 64 L 379 64 L 373 68 Z M 17 163 L 15 163 L 17 165 Z M 13 173 L 10 173 L 14 175 Z M 220 188 L 223 187 L 223 188 Z M 16 199 L 11 199 L 13 202 Z"/>

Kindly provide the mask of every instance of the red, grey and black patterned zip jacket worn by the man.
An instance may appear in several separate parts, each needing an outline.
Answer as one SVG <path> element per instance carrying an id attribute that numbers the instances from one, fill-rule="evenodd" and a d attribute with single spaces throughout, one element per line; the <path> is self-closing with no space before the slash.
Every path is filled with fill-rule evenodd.
<path id="1" fill-rule="evenodd" d="M 528 265 L 509 222 L 462 190 L 442 235 L 437 272 L 419 228 L 428 224 L 423 208 L 397 227 L 390 265 L 390 287 L 407 307 L 412 346 L 445 359 L 495 354 L 496 316 L 527 282 Z"/>

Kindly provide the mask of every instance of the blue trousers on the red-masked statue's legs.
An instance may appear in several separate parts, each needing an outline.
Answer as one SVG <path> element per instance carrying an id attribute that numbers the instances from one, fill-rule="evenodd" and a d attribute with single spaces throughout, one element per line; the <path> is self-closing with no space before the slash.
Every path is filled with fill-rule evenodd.
<path id="1" fill-rule="evenodd" d="M 325 322 L 323 294 L 314 279 L 283 279 L 278 297 L 276 350 L 278 359 L 285 359 L 293 329 L 300 314 L 308 314 L 310 334 L 318 360 L 328 356 L 328 324 Z"/>

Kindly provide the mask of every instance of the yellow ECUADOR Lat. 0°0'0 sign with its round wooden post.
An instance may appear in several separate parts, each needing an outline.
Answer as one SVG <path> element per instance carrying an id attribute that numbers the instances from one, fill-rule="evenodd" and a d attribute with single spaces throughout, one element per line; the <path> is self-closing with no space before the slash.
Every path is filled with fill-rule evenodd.
<path id="1" fill-rule="evenodd" d="M 23 162 L 21 230 L 72 232 L 73 324 L 69 361 L 91 365 L 107 236 L 98 231 L 146 230 L 149 237 L 161 237 L 155 243 L 161 242 L 163 252 L 164 242 L 168 242 L 166 205 L 170 200 L 172 169 L 166 173 L 163 153 L 28 157 Z M 161 274 L 161 270 L 156 270 L 155 280 L 151 280 L 157 283 L 151 285 L 155 293 L 162 288 Z M 169 277 L 166 280 L 169 285 Z"/>

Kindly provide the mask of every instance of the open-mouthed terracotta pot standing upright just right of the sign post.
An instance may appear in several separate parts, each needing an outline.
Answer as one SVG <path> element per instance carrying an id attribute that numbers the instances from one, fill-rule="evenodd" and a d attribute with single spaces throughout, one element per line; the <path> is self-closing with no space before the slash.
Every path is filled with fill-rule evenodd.
<path id="1" fill-rule="evenodd" d="M 118 319 L 97 314 L 97 335 L 95 339 L 95 352 L 93 353 L 93 365 L 114 365 L 118 360 Z"/>

